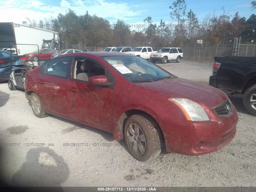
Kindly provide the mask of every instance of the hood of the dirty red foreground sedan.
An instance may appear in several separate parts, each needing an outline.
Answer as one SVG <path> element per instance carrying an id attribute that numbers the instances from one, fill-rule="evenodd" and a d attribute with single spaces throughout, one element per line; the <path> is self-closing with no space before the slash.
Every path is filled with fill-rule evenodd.
<path id="1" fill-rule="evenodd" d="M 136 85 L 168 98 L 190 99 L 204 108 L 218 106 L 228 98 L 223 91 L 217 88 L 183 78 L 136 83 Z"/>

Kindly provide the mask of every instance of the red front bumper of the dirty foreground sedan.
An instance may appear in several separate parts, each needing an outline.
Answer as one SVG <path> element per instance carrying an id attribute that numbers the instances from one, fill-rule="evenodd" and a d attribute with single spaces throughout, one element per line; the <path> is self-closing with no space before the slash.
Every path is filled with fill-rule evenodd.
<path id="1" fill-rule="evenodd" d="M 211 110 L 212 115 L 215 113 Z M 211 116 L 212 116 L 211 115 Z M 236 134 L 238 116 L 233 106 L 233 114 L 222 118 L 214 114 L 214 120 L 204 122 L 182 121 L 163 117 L 166 152 L 184 155 L 202 155 L 226 146 Z"/>

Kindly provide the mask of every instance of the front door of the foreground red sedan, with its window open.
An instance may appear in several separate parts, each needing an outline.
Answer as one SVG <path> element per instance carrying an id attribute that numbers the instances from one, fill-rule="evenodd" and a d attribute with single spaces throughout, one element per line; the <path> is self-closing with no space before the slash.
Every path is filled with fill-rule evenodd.
<path id="1" fill-rule="evenodd" d="M 114 85 L 114 76 L 102 64 L 90 58 L 76 58 L 73 64 L 73 77 L 67 80 L 68 117 L 110 130 L 112 128 L 113 86 L 98 86 L 76 79 L 76 72 L 82 72 L 80 68 L 84 60 L 89 60 L 94 65 L 90 73 L 94 73 L 95 76 L 105 75 Z"/>

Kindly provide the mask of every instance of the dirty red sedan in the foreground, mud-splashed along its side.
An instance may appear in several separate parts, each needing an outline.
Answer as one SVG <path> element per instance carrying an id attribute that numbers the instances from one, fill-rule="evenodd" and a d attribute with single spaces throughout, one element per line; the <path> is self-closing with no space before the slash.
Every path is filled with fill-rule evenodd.
<path id="1" fill-rule="evenodd" d="M 58 56 L 29 70 L 25 89 L 35 116 L 53 114 L 124 138 L 139 161 L 156 158 L 161 150 L 207 154 L 236 134 L 238 116 L 224 92 L 137 56 Z"/>

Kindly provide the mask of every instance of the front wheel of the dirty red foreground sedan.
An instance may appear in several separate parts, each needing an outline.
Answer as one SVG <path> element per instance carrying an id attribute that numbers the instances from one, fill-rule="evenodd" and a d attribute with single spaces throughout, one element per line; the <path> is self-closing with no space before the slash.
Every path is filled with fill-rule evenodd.
<path id="1" fill-rule="evenodd" d="M 124 127 L 124 138 L 130 154 L 145 162 L 156 158 L 161 152 L 160 128 L 148 115 L 130 116 Z"/>

